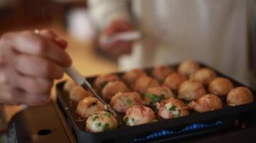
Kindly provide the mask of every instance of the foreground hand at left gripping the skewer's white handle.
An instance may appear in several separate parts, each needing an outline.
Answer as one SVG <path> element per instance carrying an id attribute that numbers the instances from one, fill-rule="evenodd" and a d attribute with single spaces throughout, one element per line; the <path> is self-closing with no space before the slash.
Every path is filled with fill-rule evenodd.
<path id="1" fill-rule="evenodd" d="M 0 39 L 0 103 L 44 104 L 71 59 L 52 31 L 7 33 Z"/>

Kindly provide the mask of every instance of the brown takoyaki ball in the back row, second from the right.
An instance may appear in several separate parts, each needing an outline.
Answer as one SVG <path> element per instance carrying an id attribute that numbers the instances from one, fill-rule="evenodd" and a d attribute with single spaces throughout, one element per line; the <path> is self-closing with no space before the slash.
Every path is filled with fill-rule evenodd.
<path id="1" fill-rule="evenodd" d="M 173 73 L 173 69 L 171 69 L 168 66 L 156 66 L 152 71 L 152 76 L 155 77 L 159 82 L 163 82 L 165 77 L 167 77 L 169 74 Z"/>

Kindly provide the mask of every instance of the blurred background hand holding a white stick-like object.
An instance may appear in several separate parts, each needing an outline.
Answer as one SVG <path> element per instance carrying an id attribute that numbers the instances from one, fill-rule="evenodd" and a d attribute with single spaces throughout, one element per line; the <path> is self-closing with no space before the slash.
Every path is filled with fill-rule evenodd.
<path id="1" fill-rule="evenodd" d="M 114 20 L 106 26 L 104 29 L 102 36 L 113 36 L 114 34 L 122 33 L 125 31 L 132 31 L 133 27 L 127 21 L 124 20 Z M 121 41 L 116 40 L 111 42 L 110 44 L 104 44 L 99 40 L 100 49 L 105 51 L 107 54 L 117 57 L 123 54 L 130 54 L 132 51 L 133 41 Z"/>

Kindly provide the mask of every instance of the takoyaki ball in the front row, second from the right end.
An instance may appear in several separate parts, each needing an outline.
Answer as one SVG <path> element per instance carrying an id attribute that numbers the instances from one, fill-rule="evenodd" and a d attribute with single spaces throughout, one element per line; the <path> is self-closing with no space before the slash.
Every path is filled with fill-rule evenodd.
<path id="1" fill-rule="evenodd" d="M 188 107 L 196 112 L 209 112 L 222 108 L 222 102 L 214 94 L 206 94 L 188 104 Z"/>

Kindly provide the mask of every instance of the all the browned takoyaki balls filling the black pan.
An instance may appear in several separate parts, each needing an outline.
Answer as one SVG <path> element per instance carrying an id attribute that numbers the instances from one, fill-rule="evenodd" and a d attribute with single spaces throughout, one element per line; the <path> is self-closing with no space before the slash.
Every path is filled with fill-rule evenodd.
<path id="1" fill-rule="evenodd" d="M 142 69 L 133 69 L 122 75 L 124 82 L 115 74 L 106 74 L 97 77 L 93 86 L 110 100 L 116 112 L 126 113 L 124 122 L 129 126 L 155 121 L 155 113 L 163 119 L 172 119 L 188 115 L 189 109 L 196 112 L 221 109 L 223 105 L 218 96 L 227 95 L 229 106 L 253 102 L 250 89 L 234 88 L 229 79 L 217 77 L 211 69 L 200 69 L 195 61 L 184 61 L 177 71 L 157 66 L 149 77 Z M 104 105 L 91 97 L 91 93 L 71 81 L 65 83 L 64 89 L 70 92 L 71 100 L 78 102 L 76 112 L 87 119 L 87 131 L 102 132 L 117 127 L 114 117 L 104 112 Z M 172 91 L 177 91 L 178 99 Z M 184 104 L 180 99 L 190 103 Z"/>

